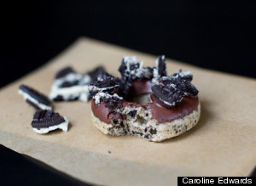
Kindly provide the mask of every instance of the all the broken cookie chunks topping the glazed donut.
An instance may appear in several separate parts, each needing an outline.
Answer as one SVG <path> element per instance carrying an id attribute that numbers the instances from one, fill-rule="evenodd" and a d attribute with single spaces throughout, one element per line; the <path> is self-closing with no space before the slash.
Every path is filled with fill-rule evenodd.
<path id="1" fill-rule="evenodd" d="M 105 93 L 106 96 L 99 99 L 98 103 L 100 103 L 105 99 L 106 102 L 109 102 L 110 97 L 107 95 L 113 95 L 113 93 L 127 96 L 131 89 L 131 83 L 143 79 L 152 79 L 152 82 L 156 83 L 152 87 L 154 98 L 159 100 L 166 108 L 175 106 L 182 101 L 184 96 L 196 97 L 198 94 L 197 88 L 191 84 L 193 75 L 190 71 L 179 70 L 172 76 L 166 76 L 165 55 L 158 56 L 154 68 L 144 68 L 143 62 L 139 64 L 139 59 L 136 56 L 125 56 L 119 66 L 119 72 L 122 76 L 121 80 L 108 73 L 102 73 L 98 76 L 97 81 L 89 87 L 90 98 L 95 97 L 97 93 L 99 93 L 98 95 L 104 95 Z M 116 105 L 115 103 L 121 100 L 117 97 L 114 99 L 116 99 L 113 101 L 114 104 L 109 105 Z"/>

